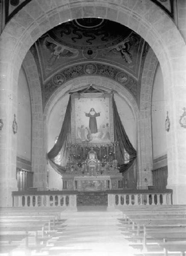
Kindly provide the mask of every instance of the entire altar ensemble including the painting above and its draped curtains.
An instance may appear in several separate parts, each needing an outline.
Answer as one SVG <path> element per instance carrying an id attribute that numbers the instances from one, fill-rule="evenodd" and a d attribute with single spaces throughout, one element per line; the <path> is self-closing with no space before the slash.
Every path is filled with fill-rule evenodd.
<path id="1" fill-rule="evenodd" d="M 63 191 L 100 193 L 104 198 L 109 190 L 127 187 L 123 173 L 136 159 L 136 151 L 119 118 L 113 92 L 91 85 L 70 94 L 48 159 L 62 176 Z"/>

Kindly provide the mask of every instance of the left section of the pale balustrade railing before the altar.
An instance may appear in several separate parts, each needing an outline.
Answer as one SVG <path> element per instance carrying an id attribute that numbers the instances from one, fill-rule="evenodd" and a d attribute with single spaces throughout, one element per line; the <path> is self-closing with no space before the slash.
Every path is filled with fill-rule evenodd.
<path id="1" fill-rule="evenodd" d="M 76 195 L 12 193 L 14 207 L 76 207 Z"/>

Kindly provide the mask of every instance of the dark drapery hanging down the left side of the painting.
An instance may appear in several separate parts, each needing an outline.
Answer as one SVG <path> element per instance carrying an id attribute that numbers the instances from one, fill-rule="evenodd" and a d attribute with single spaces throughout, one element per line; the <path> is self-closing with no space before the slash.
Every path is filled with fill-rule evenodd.
<path id="1" fill-rule="evenodd" d="M 58 156 L 61 150 L 62 150 L 61 155 L 63 155 L 63 157 L 65 157 L 66 155 L 67 143 L 71 135 L 71 111 L 72 111 L 72 106 L 71 106 L 71 95 L 70 95 L 69 102 L 67 105 L 67 110 L 64 116 L 64 121 L 61 127 L 61 132 L 58 136 L 58 140 L 53 146 L 53 148 L 47 154 L 49 162 L 50 163 L 52 162 L 51 163 L 52 166 L 55 167 L 59 172 L 61 170 L 65 170 L 65 168 L 55 163 L 55 157 Z"/>

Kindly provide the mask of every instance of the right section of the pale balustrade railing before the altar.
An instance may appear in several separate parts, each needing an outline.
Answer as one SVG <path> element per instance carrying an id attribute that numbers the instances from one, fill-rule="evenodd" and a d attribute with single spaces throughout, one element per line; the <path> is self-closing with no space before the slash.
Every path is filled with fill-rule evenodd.
<path id="1" fill-rule="evenodd" d="M 167 189 L 168 190 L 168 189 Z M 121 207 L 132 205 L 170 205 L 172 204 L 172 191 L 143 192 L 143 193 L 116 193 L 108 194 L 108 207 Z"/>

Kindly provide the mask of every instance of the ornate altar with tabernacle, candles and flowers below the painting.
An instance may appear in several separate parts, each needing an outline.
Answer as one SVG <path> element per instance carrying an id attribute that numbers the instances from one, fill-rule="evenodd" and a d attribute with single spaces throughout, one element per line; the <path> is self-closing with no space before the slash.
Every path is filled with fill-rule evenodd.
<path id="1" fill-rule="evenodd" d="M 101 146 L 97 149 L 95 147 L 95 150 L 93 146 L 90 148 L 86 146 L 85 150 L 78 144 L 69 145 L 69 147 L 70 157 L 63 175 L 63 190 L 96 192 L 123 188 L 124 180 L 122 173 L 119 172 L 117 160 L 112 157 L 107 158 L 110 160 L 109 162 L 105 158 L 98 159 L 96 150 L 99 155 L 102 155 Z M 113 144 L 108 144 L 107 147 L 108 152 L 111 150 L 114 152 Z M 74 154 L 74 150 L 76 154 Z M 82 156 L 78 154 L 79 151 L 83 151 Z"/>

